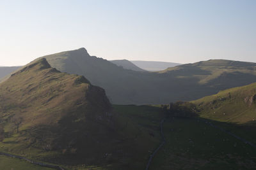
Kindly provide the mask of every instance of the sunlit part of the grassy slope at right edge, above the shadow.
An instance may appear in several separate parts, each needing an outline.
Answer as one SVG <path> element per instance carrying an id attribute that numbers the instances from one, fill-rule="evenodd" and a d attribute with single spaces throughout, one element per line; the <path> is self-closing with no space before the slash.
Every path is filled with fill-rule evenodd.
<path id="1" fill-rule="evenodd" d="M 236 124 L 255 124 L 256 83 L 223 90 L 192 103 L 200 109 L 201 117 Z"/>

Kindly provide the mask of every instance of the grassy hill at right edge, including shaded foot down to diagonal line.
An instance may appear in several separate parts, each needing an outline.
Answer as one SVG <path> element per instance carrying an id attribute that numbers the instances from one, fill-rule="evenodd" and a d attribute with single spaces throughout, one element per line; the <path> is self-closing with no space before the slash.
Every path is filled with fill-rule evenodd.
<path id="1" fill-rule="evenodd" d="M 192 101 L 201 118 L 256 145 L 256 83 Z M 218 121 L 218 122 L 216 122 Z"/>

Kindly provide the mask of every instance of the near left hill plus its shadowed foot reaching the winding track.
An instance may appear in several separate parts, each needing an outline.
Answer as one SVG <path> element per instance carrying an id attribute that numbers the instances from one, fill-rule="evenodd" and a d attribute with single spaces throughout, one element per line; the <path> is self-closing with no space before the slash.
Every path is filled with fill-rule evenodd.
<path id="1" fill-rule="evenodd" d="M 42 58 L 0 84 L 0 152 L 67 169 L 143 169 L 160 141 L 159 115 L 113 108 L 103 89 Z M 5 157 L 2 167 L 15 161 Z"/>

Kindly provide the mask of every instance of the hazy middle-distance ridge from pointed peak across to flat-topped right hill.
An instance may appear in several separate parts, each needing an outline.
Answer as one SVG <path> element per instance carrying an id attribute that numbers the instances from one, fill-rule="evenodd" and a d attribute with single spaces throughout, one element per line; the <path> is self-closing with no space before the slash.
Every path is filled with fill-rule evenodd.
<path id="1" fill-rule="evenodd" d="M 132 71 L 90 56 L 85 48 L 44 56 L 61 72 L 83 75 L 106 90 L 113 104 L 165 104 L 192 101 L 256 81 L 256 64 L 207 60 L 164 71 Z"/>

